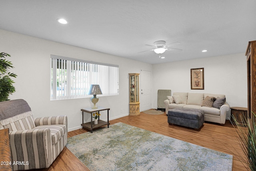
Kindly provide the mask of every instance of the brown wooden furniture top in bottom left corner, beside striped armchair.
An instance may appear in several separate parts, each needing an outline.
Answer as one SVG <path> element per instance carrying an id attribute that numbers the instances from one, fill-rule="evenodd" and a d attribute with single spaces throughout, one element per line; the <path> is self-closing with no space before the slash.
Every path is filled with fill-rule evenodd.
<path id="1" fill-rule="evenodd" d="M 9 129 L 1 129 L 0 137 L 0 170 L 12 171 L 12 153 L 10 147 Z"/>

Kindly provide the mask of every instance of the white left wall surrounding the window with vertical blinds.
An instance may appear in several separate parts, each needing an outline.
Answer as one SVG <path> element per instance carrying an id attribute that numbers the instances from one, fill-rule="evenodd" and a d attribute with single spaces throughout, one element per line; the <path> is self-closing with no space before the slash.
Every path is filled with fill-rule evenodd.
<path id="1" fill-rule="evenodd" d="M 151 64 L 5 30 L 0 30 L 0 47 L 1 52 L 11 55 L 8 60 L 15 68 L 10 72 L 18 75 L 14 78 L 16 92 L 10 96 L 10 99 L 25 99 L 34 117 L 68 115 L 69 131 L 80 128 L 82 123 L 80 109 L 90 107 L 92 103 L 90 98 L 50 101 L 51 54 L 119 65 L 119 95 L 100 97 L 97 103 L 100 106 L 110 107 L 110 120 L 129 113 L 128 73 L 140 73 L 141 69 L 152 71 Z M 90 116 L 85 116 L 85 121 L 90 121 Z M 102 111 L 101 119 L 106 120 L 106 118 L 106 111 Z"/>

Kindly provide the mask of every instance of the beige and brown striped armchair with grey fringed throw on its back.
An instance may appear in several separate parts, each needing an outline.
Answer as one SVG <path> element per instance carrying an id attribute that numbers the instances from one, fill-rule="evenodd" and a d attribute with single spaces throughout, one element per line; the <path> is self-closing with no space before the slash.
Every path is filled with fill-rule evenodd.
<path id="1" fill-rule="evenodd" d="M 0 102 L 0 129 L 9 128 L 13 170 L 48 168 L 67 143 L 67 116 L 33 118 L 23 99 Z"/>

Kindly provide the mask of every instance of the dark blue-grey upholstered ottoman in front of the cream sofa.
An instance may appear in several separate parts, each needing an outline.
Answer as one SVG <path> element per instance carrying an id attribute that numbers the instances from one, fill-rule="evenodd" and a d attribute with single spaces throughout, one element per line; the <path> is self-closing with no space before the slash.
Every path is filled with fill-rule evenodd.
<path id="1" fill-rule="evenodd" d="M 204 124 L 204 111 L 174 108 L 168 111 L 168 123 L 169 125 L 175 124 L 198 130 Z"/>

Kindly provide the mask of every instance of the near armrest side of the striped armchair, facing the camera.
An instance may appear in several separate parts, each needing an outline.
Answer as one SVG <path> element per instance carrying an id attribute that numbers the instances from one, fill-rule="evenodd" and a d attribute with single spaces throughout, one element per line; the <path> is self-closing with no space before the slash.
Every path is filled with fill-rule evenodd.
<path id="1" fill-rule="evenodd" d="M 52 163 L 52 139 L 50 129 L 29 129 L 10 131 L 12 162 L 24 162 L 13 165 L 13 170 L 39 169 Z"/>

